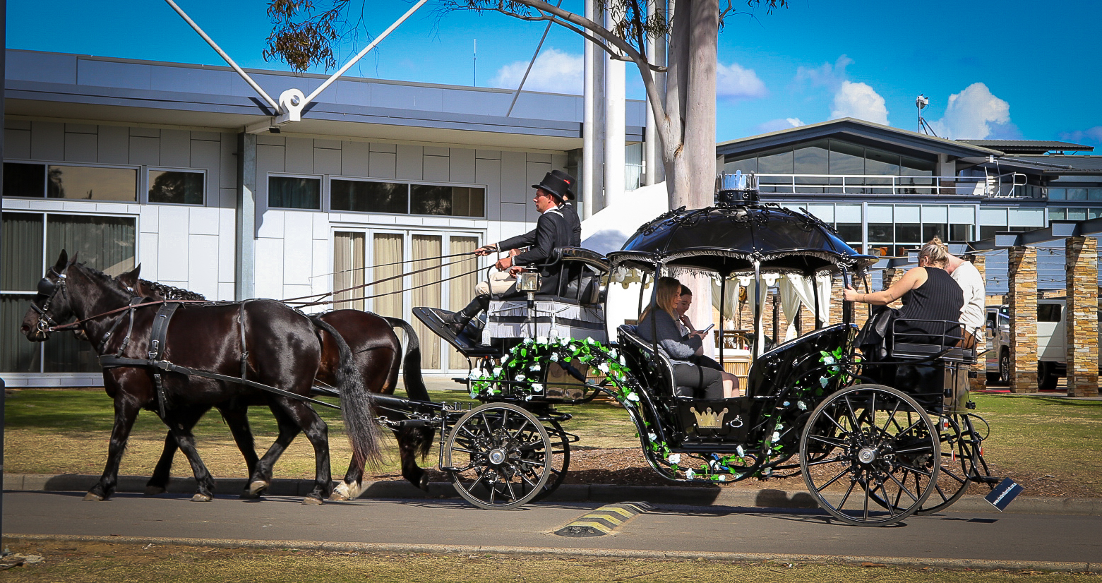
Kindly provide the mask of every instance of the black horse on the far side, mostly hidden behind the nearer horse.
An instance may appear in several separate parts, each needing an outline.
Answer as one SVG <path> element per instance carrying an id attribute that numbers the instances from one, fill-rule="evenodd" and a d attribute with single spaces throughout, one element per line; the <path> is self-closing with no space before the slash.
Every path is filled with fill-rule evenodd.
<path id="1" fill-rule="evenodd" d="M 132 271 L 120 274 L 116 280 L 129 293 L 138 298 L 164 299 L 168 293 L 177 295 L 181 299 L 196 298 L 198 294 L 187 290 L 168 288 L 155 282 L 140 279 L 141 266 Z M 198 296 L 201 298 L 201 296 Z M 403 373 L 406 392 L 410 399 L 428 401 L 429 391 L 421 377 L 421 347 L 417 332 L 408 322 L 397 317 L 380 316 L 370 312 L 358 310 L 337 310 L 326 312 L 317 316 L 323 322 L 332 325 L 337 333 L 348 343 L 356 360 L 356 369 L 363 382 L 371 392 L 382 395 L 393 395 L 398 385 L 399 365 Z M 393 328 L 401 327 L 408 338 L 404 358 L 399 358 L 402 353 L 402 345 Z M 328 332 L 321 333 L 322 338 L 322 366 L 317 370 L 315 380 L 335 386 L 336 371 L 339 366 L 339 352 L 336 342 Z M 215 406 L 225 419 L 234 435 L 241 455 L 245 457 L 249 475 L 252 476 L 258 457 L 253 449 L 252 432 L 249 429 L 246 407 L 249 404 L 263 404 L 261 401 L 240 403 L 230 401 Z M 401 412 L 388 411 L 391 419 L 403 419 Z M 403 427 L 396 429 L 395 438 L 398 440 L 399 455 L 401 458 L 402 476 L 414 486 L 428 489 L 428 475 L 418 465 L 418 458 L 424 458 L 432 447 L 435 429 L 432 427 Z M 290 440 L 298 433 L 296 425 L 280 427 L 280 434 L 276 443 L 280 447 L 285 447 Z M 170 432 L 164 439 L 164 450 L 158 461 L 153 475 L 145 485 L 145 493 L 149 495 L 161 494 L 169 484 L 172 469 L 172 458 L 176 453 L 176 441 Z M 337 484 L 331 500 L 346 500 L 355 498 L 363 493 L 364 464 L 356 457 L 348 464 L 348 471 L 341 484 Z M 246 488 L 244 496 L 255 497 L 268 486 L 271 476 L 262 476 L 260 482 L 253 481 Z"/>

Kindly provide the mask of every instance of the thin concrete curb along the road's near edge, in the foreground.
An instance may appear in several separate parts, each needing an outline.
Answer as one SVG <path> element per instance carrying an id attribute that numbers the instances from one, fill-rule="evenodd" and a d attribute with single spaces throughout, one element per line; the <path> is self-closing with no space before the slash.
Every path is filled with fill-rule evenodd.
<path id="1" fill-rule="evenodd" d="M 247 548 L 270 550 L 310 550 L 332 552 L 408 552 L 432 554 L 498 554 L 498 555 L 543 555 L 543 557 L 579 557 L 650 559 L 695 561 L 776 561 L 786 563 L 874 563 L 893 566 L 936 566 L 941 569 L 1005 569 L 1008 571 L 1044 570 L 1072 573 L 1100 573 L 1099 563 L 1056 562 L 1056 561 L 1000 561 L 984 559 L 930 559 L 925 557 L 852 557 L 829 554 L 766 554 L 739 552 L 690 552 L 690 551 L 629 551 L 619 549 L 568 549 L 557 547 L 476 547 L 463 544 L 399 544 L 370 542 L 317 542 L 299 540 L 235 540 L 235 539 L 176 539 L 144 537 L 87 537 L 55 535 L 8 535 L 10 541 L 75 541 L 75 542 L 109 542 L 115 544 L 179 544 L 185 547 Z"/>

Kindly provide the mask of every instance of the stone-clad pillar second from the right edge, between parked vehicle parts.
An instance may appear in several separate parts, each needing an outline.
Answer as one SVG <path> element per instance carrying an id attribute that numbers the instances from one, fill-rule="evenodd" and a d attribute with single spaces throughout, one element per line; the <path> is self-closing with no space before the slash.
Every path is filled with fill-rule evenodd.
<path id="1" fill-rule="evenodd" d="M 1009 249 L 1011 392 L 1037 390 L 1037 249 Z"/>

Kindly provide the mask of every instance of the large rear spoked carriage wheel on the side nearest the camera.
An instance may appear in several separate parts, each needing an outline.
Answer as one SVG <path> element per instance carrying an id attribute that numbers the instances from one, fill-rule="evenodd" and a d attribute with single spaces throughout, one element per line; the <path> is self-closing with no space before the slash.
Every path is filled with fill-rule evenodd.
<path id="1" fill-rule="evenodd" d="M 858 526 L 893 525 L 914 514 L 933 492 L 940 467 L 930 417 L 882 385 L 828 397 L 804 425 L 800 452 L 803 482 L 819 506 Z"/>

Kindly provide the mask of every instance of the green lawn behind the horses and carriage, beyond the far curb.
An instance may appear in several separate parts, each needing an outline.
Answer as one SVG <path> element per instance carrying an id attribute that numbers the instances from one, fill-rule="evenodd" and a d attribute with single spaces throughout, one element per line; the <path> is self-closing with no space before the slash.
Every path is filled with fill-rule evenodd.
<path id="1" fill-rule="evenodd" d="M 431 391 L 433 400 L 477 402 L 461 391 Z M 1102 401 L 1079 401 L 1056 397 L 974 395 L 975 412 L 991 424 L 984 455 L 996 475 L 1019 481 L 1026 495 L 1102 497 Z M 595 401 L 562 407 L 574 418 L 563 424 L 581 441 L 575 449 L 638 447 L 635 425 L 615 403 Z M 348 460 L 339 412 L 320 408 L 329 425 L 334 473 Z M 101 391 L 19 390 L 7 401 L 6 469 L 10 473 L 99 474 L 107 456 L 111 431 L 111 400 Z M 263 451 L 276 438 L 277 427 L 263 407 L 253 407 L 249 421 Z M 244 463 L 222 418 L 206 415 L 196 427 L 199 454 L 215 476 L 244 476 Z M 148 475 L 161 453 L 164 425 L 155 414 L 143 411 L 131 435 L 121 472 Z M 389 440 L 389 438 L 388 438 Z M 397 450 L 392 442 L 387 450 Z M 396 454 L 391 457 L 397 457 Z M 425 465 L 434 465 L 430 455 Z M 299 438 L 277 467 L 277 477 L 312 477 L 313 451 Z M 191 475 L 177 456 L 173 474 Z M 397 474 L 391 461 L 376 475 Z"/>

